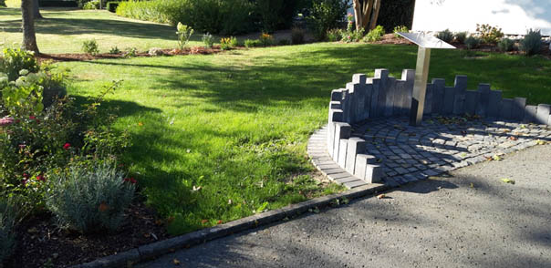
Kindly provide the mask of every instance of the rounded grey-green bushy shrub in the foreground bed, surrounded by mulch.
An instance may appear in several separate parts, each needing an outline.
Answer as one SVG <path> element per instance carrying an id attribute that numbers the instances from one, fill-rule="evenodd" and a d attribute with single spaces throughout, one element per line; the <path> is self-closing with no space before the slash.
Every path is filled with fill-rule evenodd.
<path id="1" fill-rule="evenodd" d="M 50 176 L 47 209 L 66 228 L 78 232 L 116 231 L 134 196 L 135 180 L 113 163 L 75 165 Z"/>

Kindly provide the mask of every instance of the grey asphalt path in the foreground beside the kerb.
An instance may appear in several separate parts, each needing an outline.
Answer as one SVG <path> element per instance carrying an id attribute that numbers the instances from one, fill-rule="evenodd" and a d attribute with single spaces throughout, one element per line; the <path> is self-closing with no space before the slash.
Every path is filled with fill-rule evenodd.
<path id="1" fill-rule="evenodd" d="M 137 267 L 551 267 L 550 162 L 536 146 Z"/>

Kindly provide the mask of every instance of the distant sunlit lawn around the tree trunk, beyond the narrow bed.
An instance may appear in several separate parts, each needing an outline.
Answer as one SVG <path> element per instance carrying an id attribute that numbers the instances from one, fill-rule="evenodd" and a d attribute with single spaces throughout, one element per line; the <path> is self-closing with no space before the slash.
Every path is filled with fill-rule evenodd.
<path id="1" fill-rule="evenodd" d="M 124 18 L 106 10 L 48 7 L 42 8 L 41 14 L 45 18 L 36 20 L 36 42 L 42 53 L 82 53 L 82 42 L 88 39 L 96 39 L 100 53 L 108 53 L 114 46 L 120 50 L 136 47 L 139 51 L 178 46 L 175 26 Z M 201 46 L 201 38 L 192 36 L 190 46 Z M 0 43 L 20 46 L 21 41 L 20 9 L 0 7 Z"/>

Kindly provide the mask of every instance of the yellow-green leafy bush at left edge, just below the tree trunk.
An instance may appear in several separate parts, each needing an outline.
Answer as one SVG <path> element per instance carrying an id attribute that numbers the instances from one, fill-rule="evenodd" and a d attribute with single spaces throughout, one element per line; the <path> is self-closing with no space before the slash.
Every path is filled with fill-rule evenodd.
<path id="1" fill-rule="evenodd" d="M 36 73 L 40 67 L 32 51 L 20 48 L 4 48 L 0 57 L 0 73 L 7 75 L 8 81 L 15 81 L 19 72 L 26 69 Z"/>

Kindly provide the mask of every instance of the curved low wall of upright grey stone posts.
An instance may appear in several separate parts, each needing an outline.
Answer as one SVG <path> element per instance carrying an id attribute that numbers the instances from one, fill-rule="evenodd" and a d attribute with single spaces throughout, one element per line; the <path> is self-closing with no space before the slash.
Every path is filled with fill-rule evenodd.
<path id="1" fill-rule="evenodd" d="M 376 69 L 374 77 L 356 74 L 346 88 L 331 92 L 326 146 L 338 167 L 367 183 L 384 177 L 381 162 L 370 155 L 366 140 L 353 135 L 352 126 L 369 120 L 404 117 L 410 114 L 415 71 L 405 69 L 400 79 L 389 77 L 387 69 Z M 550 106 L 526 105 L 525 98 L 502 98 L 502 91 L 480 84 L 467 90 L 467 77 L 457 76 L 453 87 L 444 79 L 427 84 L 424 114 L 442 116 L 474 115 L 481 119 L 503 119 L 550 125 Z"/>

